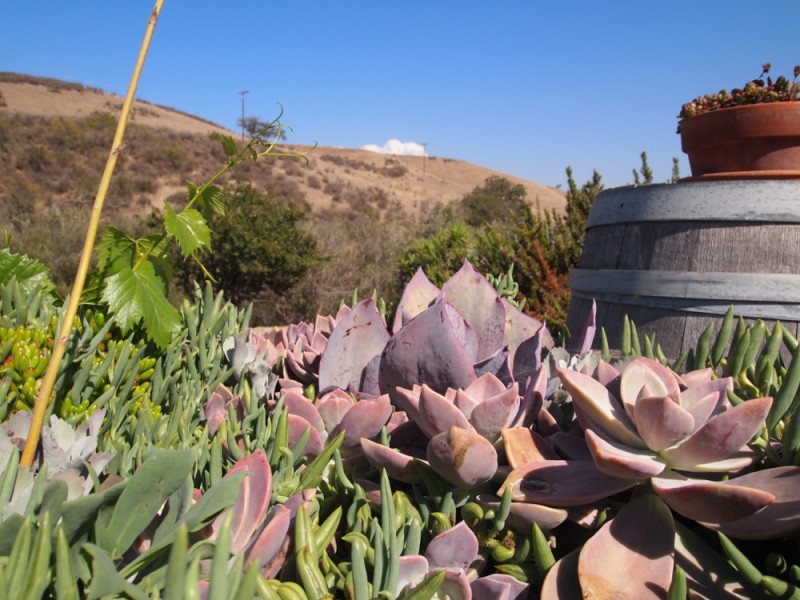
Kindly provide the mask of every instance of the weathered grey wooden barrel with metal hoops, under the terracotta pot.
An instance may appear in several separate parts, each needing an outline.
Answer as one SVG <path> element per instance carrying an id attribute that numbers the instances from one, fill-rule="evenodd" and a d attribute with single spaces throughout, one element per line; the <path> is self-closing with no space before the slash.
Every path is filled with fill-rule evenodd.
<path id="1" fill-rule="evenodd" d="M 598 194 L 567 324 L 597 302 L 619 348 L 624 315 L 656 334 L 667 356 L 694 347 L 732 305 L 747 320 L 800 323 L 800 181 L 736 180 L 629 186 Z M 715 329 L 718 329 L 715 327 Z M 595 338 L 595 346 L 599 336 Z"/>

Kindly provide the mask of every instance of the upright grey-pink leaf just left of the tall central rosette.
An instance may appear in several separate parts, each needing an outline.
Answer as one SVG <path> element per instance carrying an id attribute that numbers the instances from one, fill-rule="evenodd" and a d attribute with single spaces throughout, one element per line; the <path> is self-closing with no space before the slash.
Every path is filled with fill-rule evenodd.
<path id="1" fill-rule="evenodd" d="M 319 388 L 378 395 L 378 382 L 368 367 L 379 357 L 389 332 L 371 298 L 356 304 L 331 333 L 319 363 Z"/>

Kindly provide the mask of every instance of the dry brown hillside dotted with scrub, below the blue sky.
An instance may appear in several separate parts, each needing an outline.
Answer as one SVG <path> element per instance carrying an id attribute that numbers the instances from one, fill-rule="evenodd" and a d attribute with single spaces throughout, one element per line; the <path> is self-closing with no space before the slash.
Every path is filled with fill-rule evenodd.
<path id="1" fill-rule="evenodd" d="M 66 291 L 116 129 L 122 98 L 80 84 L 0 73 L 0 235 L 48 265 Z M 136 235 L 186 182 L 203 184 L 226 158 L 211 133 L 239 135 L 175 109 L 136 102 L 103 209 L 107 224 Z M 247 184 L 308 207 L 303 227 L 324 260 L 289 290 L 253 300 L 254 322 L 297 321 L 335 311 L 354 289 L 399 294 L 398 258 L 453 217 L 447 205 L 490 176 L 527 191 L 531 204 L 563 214 L 563 192 L 460 160 L 283 145 L 306 154 L 246 162 L 218 183 Z M 256 231 L 259 224 L 254 223 Z M 495 273 L 497 274 L 497 273 Z M 395 298 L 396 299 L 396 298 Z"/>

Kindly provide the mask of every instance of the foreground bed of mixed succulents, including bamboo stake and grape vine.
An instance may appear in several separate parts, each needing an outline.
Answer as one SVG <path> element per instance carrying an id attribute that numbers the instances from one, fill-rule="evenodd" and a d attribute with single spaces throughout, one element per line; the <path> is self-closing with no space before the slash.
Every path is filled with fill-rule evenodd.
<path id="1" fill-rule="evenodd" d="M 169 244 L 208 246 L 215 179 L 274 148 L 220 141 L 164 232 L 105 232 L 63 304 L 0 252 L 0 597 L 800 598 L 780 324 L 730 311 L 670 361 L 626 320 L 593 351 L 593 314 L 556 340 L 468 262 L 391 314 L 251 327 L 210 285 L 176 308 Z"/>

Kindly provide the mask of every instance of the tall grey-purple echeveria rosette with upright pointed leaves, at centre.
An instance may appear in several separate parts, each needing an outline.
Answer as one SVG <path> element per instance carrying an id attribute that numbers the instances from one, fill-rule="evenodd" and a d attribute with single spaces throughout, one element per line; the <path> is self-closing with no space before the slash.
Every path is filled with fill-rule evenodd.
<path id="1" fill-rule="evenodd" d="M 444 393 L 491 372 L 524 385 L 552 338 L 541 321 L 501 298 L 468 261 L 441 289 L 420 270 L 406 286 L 380 360 L 382 393 L 427 384 Z"/>

